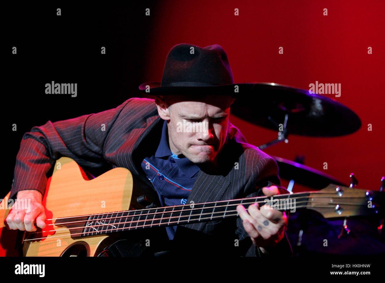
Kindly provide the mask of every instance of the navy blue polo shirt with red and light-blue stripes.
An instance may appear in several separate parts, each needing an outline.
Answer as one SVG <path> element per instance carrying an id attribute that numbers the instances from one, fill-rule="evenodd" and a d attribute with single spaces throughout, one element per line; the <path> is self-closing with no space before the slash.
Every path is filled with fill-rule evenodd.
<path id="1" fill-rule="evenodd" d="M 162 206 L 186 204 L 199 172 L 199 167 L 187 157 L 178 158 L 171 152 L 167 121 L 164 121 L 161 141 L 155 155 L 143 159 L 142 169 L 154 186 Z M 176 227 L 166 227 L 170 240 L 174 238 Z"/>

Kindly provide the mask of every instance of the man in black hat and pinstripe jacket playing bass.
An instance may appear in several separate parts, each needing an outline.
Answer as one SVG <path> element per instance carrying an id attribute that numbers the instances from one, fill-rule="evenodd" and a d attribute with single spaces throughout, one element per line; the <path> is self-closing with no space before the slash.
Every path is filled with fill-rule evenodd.
<path id="1" fill-rule="evenodd" d="M 13 209 L 6 223 L 10 229 L 35 231 L 36 220 L 36 226 L 45 227 L 46 175 L 60 156 L 99 171 L 126 167 L 155 188 L 162 206 L 286 193 L 279 188 L 274 159 L 247 144 L 229 123 L 234 97 L 252 86 L 234 84 L 221 46 L 174 46 L 162 82 L 139 87 L 156 96 L 155 104 L 129 99 L 116 109 L 49 121 L 24 135 L 10 195 L 31 199 L 31 211 Z M 237 212 L 237 219 L 167 227 L 168 238 L 177 243 L 174 254 L 199 249 L 218 255 L 291 255 L 285 213 L 258 204 L 248 211 L 239 205 Z"/>

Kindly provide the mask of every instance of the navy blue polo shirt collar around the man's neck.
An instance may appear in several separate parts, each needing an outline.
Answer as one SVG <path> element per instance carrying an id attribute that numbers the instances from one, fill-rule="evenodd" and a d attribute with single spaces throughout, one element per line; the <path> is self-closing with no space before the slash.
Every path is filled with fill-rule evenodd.
<path id="1" fill-rule="evenodd" d="M 167 121 L 165 120 L 163 122 L 161 141 L 159 142 L 159 146 L 155 152 L 155 157 L 161 158 L 172 156 L 178 167 L 187 176 L 187 178 L 192 178 L 192 176 L 200 170 L 199 167 L 191 162 L 187 157 L 178 158 L 175 156 L 170 150 L 167 137 Z"/>

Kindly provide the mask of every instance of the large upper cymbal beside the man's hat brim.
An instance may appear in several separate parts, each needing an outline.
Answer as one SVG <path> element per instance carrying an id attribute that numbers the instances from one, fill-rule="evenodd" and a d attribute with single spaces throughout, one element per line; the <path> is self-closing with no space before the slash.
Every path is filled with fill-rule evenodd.
<path id="1" fill-rule="evenodd" d="M 288 133 L 301 136 L 343 136 L 361 127 L 357 114 L 335 99 L 273 83 L 255 83 L 250 95 L 234 101 L 231 113 L 275 131 L 288 114 Z"/>

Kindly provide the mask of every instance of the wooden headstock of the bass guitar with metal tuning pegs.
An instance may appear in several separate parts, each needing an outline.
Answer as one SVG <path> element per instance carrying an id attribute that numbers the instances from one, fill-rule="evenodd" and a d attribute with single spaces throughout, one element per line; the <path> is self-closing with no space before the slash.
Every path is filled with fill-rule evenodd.
<path id="1" fill-rule="evenodd" d="M 320 191 L 309 193 L 306 208 L 324 218 L 351 216 L 384 216 L 385 192 L 368 191 L 330 184 Z"/>

